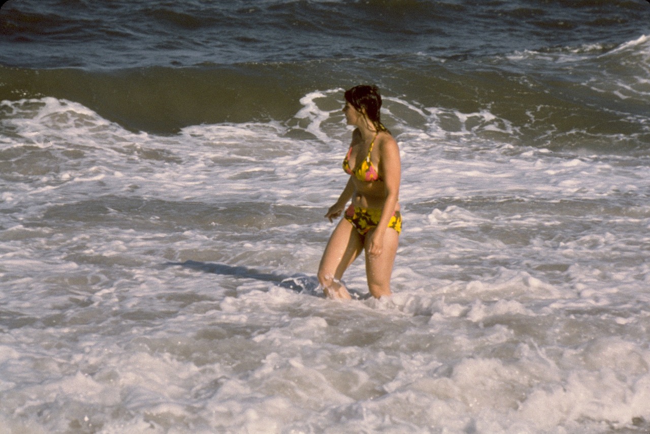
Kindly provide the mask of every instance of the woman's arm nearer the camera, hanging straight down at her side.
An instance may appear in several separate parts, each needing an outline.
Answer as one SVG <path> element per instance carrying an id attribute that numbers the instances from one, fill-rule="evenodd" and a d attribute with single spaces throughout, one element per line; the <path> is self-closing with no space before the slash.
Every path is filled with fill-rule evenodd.
<path id="1" fill-rule="evenodd" d="M 385 200 L 382 207 L 382 217 L 380 217 L 377 228 L 370 237 L 369 252 L 373 256 L 382 254 L 383 236 L 386 233 L 391 217 L 393 217 L 393 213 L 395 213 L 395 207 L 400 195 L 402 163 L 397 142 L 391 135 L 388 135 L 381 142 L 380 165 L 385 185 Z"/>

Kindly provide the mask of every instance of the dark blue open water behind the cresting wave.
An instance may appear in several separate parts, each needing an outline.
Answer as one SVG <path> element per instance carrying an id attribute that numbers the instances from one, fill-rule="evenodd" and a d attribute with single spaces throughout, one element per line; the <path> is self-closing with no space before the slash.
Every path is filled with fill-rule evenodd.
<path id="1" fill-rule="evenodd" d="M 0 62 L 95 70 L 416 54 L 475 59 L 621 44 L 647 33 L 646 3 L 10 0 Z"/>

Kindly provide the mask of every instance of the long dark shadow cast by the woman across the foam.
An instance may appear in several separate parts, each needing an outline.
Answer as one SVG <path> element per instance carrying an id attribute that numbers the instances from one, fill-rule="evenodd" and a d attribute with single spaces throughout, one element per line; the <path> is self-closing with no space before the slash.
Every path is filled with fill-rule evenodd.
<path id="1" fill-rule="evenodd" d="M 320 295 L 318 291 L 318 280 L 315 276 L 304 274 L 294 274 L 291 276 L 276 275 L 274 273 L 261 273 L 248 267 L 233 267 L 226 264 L 215 264 L 214 262 L 200 262 L 188 260 L 185 262 L 167 262 L 164 265 L 179 265 L 181 267 L 191 268 L 213 273 L 216 275 L 225 275 L 241 278 L 252 278 L 263 282 L 272 282 L 281 288 L 287 288 L 298 293 L 309 293 L 311 295 Z"/>

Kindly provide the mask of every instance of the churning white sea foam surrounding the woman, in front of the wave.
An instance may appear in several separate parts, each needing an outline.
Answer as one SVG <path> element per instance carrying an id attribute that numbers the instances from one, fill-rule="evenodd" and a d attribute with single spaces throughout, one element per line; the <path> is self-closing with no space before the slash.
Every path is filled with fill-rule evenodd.
<path id="1" fill-rule="evenodd" d="M 489 111 L 388 98 L 395 294 L 337 303 L 315 270 L 345 182 L 340 98 L 167 137 L 3 103 L 0 431 L 647 427 L 648 165 L 513 146 L 479 137 L 517 135 Z M 344 280 L 367 292 L 361 260 Z"/>

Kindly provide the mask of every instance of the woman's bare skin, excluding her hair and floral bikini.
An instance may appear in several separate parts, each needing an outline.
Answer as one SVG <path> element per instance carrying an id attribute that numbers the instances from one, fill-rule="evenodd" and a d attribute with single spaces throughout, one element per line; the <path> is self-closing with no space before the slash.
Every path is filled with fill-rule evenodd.
<path id="1" fill-rule="evenodd" d="M 337 219 L 351 199 L 354 206 L 382 210 L 376 228 L 365 235 L 346 219 L 341 219 L 331 234 L 330 241 L 320 260 L 318 282 L 325 294 L 332 299 L 350 299 L 350 293 L 341 284 L 345 270 L 365 252 L 366 275 L 370 294 L 376 298 L 391 295 L 391 273 L 399 236 L 388 224 L 396 210 L 399 210 L 400 156 L 395 139 L 387 131 L 377 131 L 365 115 L 350 103 L 343 109 L 348 125 L 356 126 L 352 133 L 352 153 L 348 159 L 350 167 L 356 167 L 368 154 L 374 141 L 370 160 L 378 167 L 381 180 L 365 182 L 351 175 L 343 193 L 325 217 Z"/>

